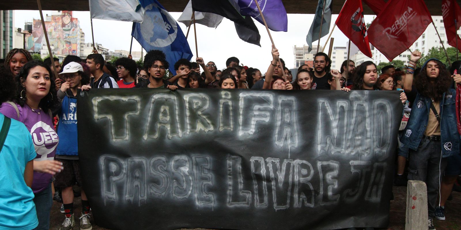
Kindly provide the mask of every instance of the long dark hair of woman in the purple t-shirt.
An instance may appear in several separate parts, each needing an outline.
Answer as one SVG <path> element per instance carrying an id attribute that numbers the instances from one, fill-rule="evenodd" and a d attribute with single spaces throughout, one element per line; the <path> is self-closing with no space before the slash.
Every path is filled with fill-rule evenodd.
<path id="1" fill-rule="evenodd" d="M 48 73 L 50 74 L 50 82 L 51 82 L 50 91 L 47 94 L 47 96 L 45 96 L 44 98 L 41 98 L 40 103 L 38 104 L 38 106 L 41 109 L 43 109 L 44 112 L 47 113 L 48 109 L 51 109 L 51 111 L 56 109 L 56 107 L 58 106 L 58 97 L 56 96 L 56 85 L 54 81 L 51 79 L 52 77 L 51 69 L 47 64 L 41 61 L 30 61 L 21 68 L 21 70 L 19 71 L 19 75 L 16 76 L 17 93 L 13 100 L 19 105 L 24 106 L 24 103 L 25 103 L 24 96 L 27 97 L 27 95 L 25 95 L 25 88 L 22 83 L 26 81 L 26 78 L 27 78 L 27 75 L 29 75 L 30 69 L 36 66 L 41 66 L 47 69 Z M 21 93 L 23 94 L 23 98 L 21 98 Z"/>

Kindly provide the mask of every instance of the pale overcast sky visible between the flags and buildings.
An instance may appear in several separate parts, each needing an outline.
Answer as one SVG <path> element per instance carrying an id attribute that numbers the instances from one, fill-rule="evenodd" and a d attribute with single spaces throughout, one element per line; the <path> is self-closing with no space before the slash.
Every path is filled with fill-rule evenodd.
<path id="1" fill-rule="evenodd" d="M 43 16 L 51 14 L 51 11 L 43 11 Z M 180 12 L 171 12 L 171 15 L 177 19 Z M 288 68 L 294 68 L 293 46 L 307 45 L 306 35 L 312 24 L 313 14 L 288 14 L 288 32 L 271 31 L 272 38 Z M 91 24 L 89 11 L 73 11 L 73 17 L 78 18 L 80 27 L 85 33 L 85 42 L 91 41 Z M 332 23 L 336 21 L 337 15 L 331 18 Z M 39 11 L 15 11 L 14 27 L 24 29 L 25 22 L 32 22 L 33 19 L 40 19 Z M 372 15 L 365 16 L 365 23 L 371 23 Z M 271 41 L 267 35 L 266 28 L 263 24 L 255 21 L 261 35 L 261 47 L 242 41 L 235 30 L 234 23 L 224 18 L 218 28 L 208 28 L 204 25 L 197 24 L 197 43 L 198 53 L 203 57 L 205 62 L 214 61 L 218 69 L 225 68 L 225 61 L 228 57 L 235 56 L 240 59 L 240 63 L 249 67 L 258 68 L 261 72 L 266 72 L 269 62 L 271 61 Z M 183 23 L 178 23 L 184 34 L 187 31 Z M 102 44 L 111 51 L 130 50 L 131 39 L 130 22 L 118 22 L 109 20 L 93 19 L 93 29 L 95 33 L 95 42 Z M 189 32 L 189 46 L 194 54 L 192 60 L 195 61 L 195 41 L 194 28 Z M 320 40 L 320 46 L 325 44 L 328 35 Z M 334 46 L 346 46 L 347 37 L 341 30 L 335 28 L 333 31 Z M 313 43 L 316 45 L 317 41 Z M 328 52 L 328 46 L 325 52 Z M 141 51 L 141 45 L 133 40 L 133 51 Z M 171 63 L 172 64 L 172 63 Z"/>

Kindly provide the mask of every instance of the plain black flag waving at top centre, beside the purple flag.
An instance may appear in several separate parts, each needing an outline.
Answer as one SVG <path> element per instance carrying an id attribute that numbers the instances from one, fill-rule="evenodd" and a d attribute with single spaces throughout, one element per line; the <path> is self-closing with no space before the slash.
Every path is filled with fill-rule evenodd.
<path id="1" fill-rule="evenodd" d="M 236 24 L 236 32 L 240 39 L 261 46 L 261 36 L 254 21 L 248 20 L 248 16 L 240 14 L 240 7 L 234 0 L 192 0 L 192 9 L 194 11 L 214 13 L 226 17 Z"/>

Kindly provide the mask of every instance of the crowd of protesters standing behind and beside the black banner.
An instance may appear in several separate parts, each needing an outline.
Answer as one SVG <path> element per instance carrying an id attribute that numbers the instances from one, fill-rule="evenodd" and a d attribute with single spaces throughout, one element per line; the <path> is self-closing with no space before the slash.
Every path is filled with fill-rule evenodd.
<path id="1" fill-rule="evenodd" d="M 73 213 L 75 196 L 82 197 L 80 229 L 91 230 L 90 204 L 82 188 L 77 144 L 77 92 L 92 88 L 221 88 L 274 90 L 400 90 L 404 104 L 394 184 L 406 185 L 408 179 L 427 184 L 428 229 L 432 219 L 444 220 L 444 204 L 458 175 L 461 174 L 460 134 L 456 129 L 455 83 L 461 75 L 446 69 L 437 59 L 417 68 L 421 53 L 411 54 L 408 67 L 386 66 L 381 75 L 375 63 L 355 66 L 344 61 L 340 70 L 331 69 L 331 59 L 319 52 L 313 66 L 302 65 L 295 76 L 272 49 L 272 60 L 263 75 L 260 69 L 241 66 L 230 57 L 219 70 L 213 61 L 180 59 L 168 63 L 165 54 L 149 51 L 143 68 L 131 57 L 105 62 L 97 52 L 85 60 L 65 57 L 33 61 L 23 49 L 11 50 L 0 67 L 0 228 L 49 229 L 54 199 L 63 202 L 64 221 L 60 230 L 76 225 Z M 168 75 L 174 65 L 176 73 Z M 460 63 L 454 63 L 454 66 Z M 59 75 L 53 74 L 53 66 Z M 203 70 L 203 72 L 201 71 Z M 450 73 L 451 71 L 451 73 Z M 5 124 L 9 126 L 5 129 Z M 3 140 L 2 140 L 3 139 Z M 22 140 L 22 141 L 15 141 Z M 439 189 L 440 188 L 440 189 Z M 56 190 L 56 191 L 55 191 Z"/>

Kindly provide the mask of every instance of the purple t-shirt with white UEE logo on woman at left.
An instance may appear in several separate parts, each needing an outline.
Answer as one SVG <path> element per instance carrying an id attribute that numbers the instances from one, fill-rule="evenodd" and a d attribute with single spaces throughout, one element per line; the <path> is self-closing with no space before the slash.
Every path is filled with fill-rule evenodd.
<path id="1" fill-rule="evenodd" d="M 30 132 L 32 143 L 34 143 L 37 156 L 34 161 L 49 161 L 54 159 L 56 146 L 58 146 L 59 138 L 56 130 L 53 127 L 53 120 L 47 112 L 40 110 L 40 114 L 32 111 L 27 104 L 20 106 L 19 118 L 16 109 L 8 103 L 0 105 L 0 113 L 3 115 L 21 121 Z M 53 175 L 48 173 L 39 173 L 34 171 L 34 180 L 32 182 L 32 190 L 34 193 L 41 192 L 46 189 L 51 183 Z"/>

